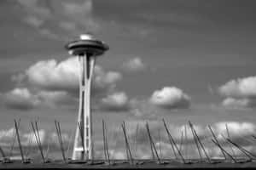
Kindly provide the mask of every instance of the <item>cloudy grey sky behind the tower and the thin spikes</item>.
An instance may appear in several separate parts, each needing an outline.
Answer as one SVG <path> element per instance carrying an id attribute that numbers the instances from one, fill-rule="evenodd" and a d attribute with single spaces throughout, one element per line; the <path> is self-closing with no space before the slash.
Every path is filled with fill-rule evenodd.
<path id="1" fill-rule="evenodd" d="M 170 147 L 166 137 L 157 139 L 156 129 L 166 136 L 162 118 L 177 140 L 190 120 L 206 136 L 207 124 L 220 135 L 227 123 L 241 142 L 256 132 L 255 7 L 249 0 L 1 1 L 0 144 L 10 140 L 19 118 L 24 144 L 31 133 L 28 123 L 36 119 L 44 144 L 55 141 L 55 119 L 67 139 L 72 136 L 79 70 L 64 46 L 87 32 L 109 46 L 96 59 L 93 78 L 97 156 L 102 156 L 102 119 L 115 158 L 125 156 L 118 135 L 122 121 L 131 137 L 140 124 L 138 157 L 150 155 L 143 145 L 144 122 L 158 144 Z M 219 150 L 211 154 L 218 156 Z"/>

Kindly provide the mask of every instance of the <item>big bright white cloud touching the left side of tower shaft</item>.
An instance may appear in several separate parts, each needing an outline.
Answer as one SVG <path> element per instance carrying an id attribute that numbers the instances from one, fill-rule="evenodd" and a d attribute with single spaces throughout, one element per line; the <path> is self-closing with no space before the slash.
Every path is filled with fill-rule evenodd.
<path id="1" fill-rule="evenodd" d="M 38 61 L 26 70 L 28 82 L 46 89 L 73 89 L 79 84 L 79 62 L 76 58 L 57 63 L 55 59 Z"/>

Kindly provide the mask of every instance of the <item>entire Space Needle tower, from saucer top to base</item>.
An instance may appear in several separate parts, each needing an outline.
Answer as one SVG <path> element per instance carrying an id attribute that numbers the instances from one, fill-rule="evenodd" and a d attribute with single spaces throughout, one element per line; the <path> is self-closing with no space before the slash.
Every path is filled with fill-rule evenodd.
<path id="1" fill-rule="evenodd" d="M 90 89 L 96 56 L 104 54 L 108 45 L 90 34 L 80 35 L 78 40 L 68 42 L 68 53 L 79 59 L 79 116 L 73 144 L 73 160 L 93 159 L 93 131 L 90 111 Z"/>

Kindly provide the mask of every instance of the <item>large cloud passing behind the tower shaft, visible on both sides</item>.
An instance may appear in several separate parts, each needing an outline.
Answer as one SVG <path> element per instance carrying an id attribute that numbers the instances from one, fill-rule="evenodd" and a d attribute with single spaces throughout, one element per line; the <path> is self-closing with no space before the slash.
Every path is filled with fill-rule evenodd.
<path id="1" fill-rule="evenodd" d="M 122 75 L 116 71 L 105 71 L 96 65 L 93 77 L 93 94 L 106 93 L 115 88 Z M 55 59 L 38 61 L 20 76 L 34 87 L 48 91 L 73 92 L 79 89 L 79 61 L 72 57 L 61 62 Z M 19 79 L 20 81 L 20 79 Z"/>

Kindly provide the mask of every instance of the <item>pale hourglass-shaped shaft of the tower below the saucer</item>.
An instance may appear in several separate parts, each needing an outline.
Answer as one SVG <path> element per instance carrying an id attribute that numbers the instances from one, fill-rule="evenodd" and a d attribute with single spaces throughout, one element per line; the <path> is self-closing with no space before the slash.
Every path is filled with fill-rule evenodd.
<path id="1" fill-rule="evenodd" d="M 72 159 L 93 159 L 92 117 L 90 112 L 90 88 L 95 57 L 90 54 L 79 56 L 79 117 L 73 145 Z M 80 126 L 80 127 L 79 127 Z"/>

